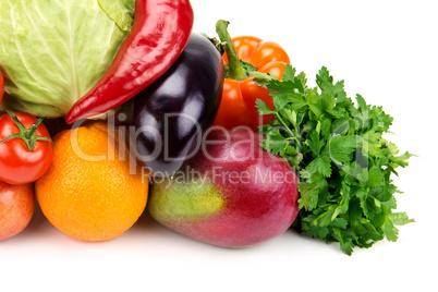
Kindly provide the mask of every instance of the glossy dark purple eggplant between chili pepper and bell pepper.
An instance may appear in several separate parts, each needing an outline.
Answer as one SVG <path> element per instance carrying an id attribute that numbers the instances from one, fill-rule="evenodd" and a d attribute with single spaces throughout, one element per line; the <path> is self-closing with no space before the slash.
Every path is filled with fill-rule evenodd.
<path id="1" fill-rule="evenodd" d="M 219 109 L 224 78 L 219 50 L 192 34 L 171 69 L 125 107 L 137 157 L 157 177 L 170 177 L 199 149 Z M 131 129 L 132 129 L 131 127 Z"/>

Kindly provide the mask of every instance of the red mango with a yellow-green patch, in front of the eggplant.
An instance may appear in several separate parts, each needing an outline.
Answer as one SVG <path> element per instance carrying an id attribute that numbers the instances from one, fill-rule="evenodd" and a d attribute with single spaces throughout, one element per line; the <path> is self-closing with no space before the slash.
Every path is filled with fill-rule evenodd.
<path id="1" fill-rule="evenodd" d="M 162 226 L 223 247 L 253 246 L 299 214 L 297 175 L 252 131 L 211 131 L 172 178 L 154 181 L 148 210 Z"/>

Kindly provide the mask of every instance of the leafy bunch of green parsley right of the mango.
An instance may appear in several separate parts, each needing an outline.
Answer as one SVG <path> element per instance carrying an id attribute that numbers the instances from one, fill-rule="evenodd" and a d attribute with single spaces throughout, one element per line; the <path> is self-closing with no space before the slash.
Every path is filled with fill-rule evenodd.
<path id="1" fill-rule="evenodd" d="M 360 95 L 356 104 L 344 92 L 343 81 L 333 83 L 323 68 L 317 87 L 287 66 L 282 81 L 255 74 L 268 88 L 275 109 L 257 100 L 261 114 L 276 119 L 261 126 L 263 147 L 285 158 L 300 174 L 300 215 L 294 228 L 326 242 L 339 242 L 351 255 L 354 246 L 370 247 L 387 238 L 397 241 L 396 226 L 413 222 L 397 208 L 392 183 L 396 168 L 406 167 L 410 153 L 399 155 L 382 137 L 392 118 L 381 107 L 369 106 Z"/>

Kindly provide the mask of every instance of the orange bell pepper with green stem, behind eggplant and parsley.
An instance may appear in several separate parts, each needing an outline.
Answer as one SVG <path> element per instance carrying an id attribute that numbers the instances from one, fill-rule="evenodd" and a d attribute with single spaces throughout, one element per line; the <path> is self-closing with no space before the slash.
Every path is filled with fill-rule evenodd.
<path id="1" fill-rule="evenodd" d="M 261 99 L 273 109 L 272 97 L 267 88 L 256 84 L 251 73 L 270 73 L 281 80 L 288 53 L 276 42 L 264 41 L 253 36 L 241 36 L 231 39 L 227 32 L 228 22 L 219 21 L 217 32 L 226 46 L 223 62 L 228 71 L 223 83 L 222 100 L 215 120 L 215 125 L 232 130 L 236 126 L 248 126 L 257 132 L 258 126 L 273 121 L 273 115 L 261 115 L 257 112 L 256 100 Z"/>

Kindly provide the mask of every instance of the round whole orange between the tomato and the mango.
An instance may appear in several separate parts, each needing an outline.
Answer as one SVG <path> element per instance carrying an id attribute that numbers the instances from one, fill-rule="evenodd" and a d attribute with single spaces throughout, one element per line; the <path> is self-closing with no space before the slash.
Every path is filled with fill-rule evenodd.
<path id="1" fill-rule="evenodd" d="M 118 136 L 115 127 L 93 122 L 53 138 L 53 161 L 36 196 L 46 218 L 71 238 L 114 239 L 145 209 L 148 180 Z"/>

